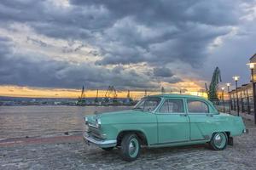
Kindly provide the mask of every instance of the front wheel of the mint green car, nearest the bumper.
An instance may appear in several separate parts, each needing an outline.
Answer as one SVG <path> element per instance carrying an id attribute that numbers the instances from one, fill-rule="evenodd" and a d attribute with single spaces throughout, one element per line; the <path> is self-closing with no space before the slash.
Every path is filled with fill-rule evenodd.
<path id="1" fill-rule="evenodd" d="M 128 133 L 121 142 L 120 155 L 125 161 L 135 161 L 141 151 L 141 144 L 136 134 Z"/>

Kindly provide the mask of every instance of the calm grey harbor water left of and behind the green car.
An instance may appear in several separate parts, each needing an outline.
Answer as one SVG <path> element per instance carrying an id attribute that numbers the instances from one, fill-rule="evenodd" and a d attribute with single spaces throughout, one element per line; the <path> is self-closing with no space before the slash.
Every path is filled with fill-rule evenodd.
<path id="1" fill-rule="evenodd" d="M 127 109 L 131 106 L 0 106 L 0 140 L 82 133 L 85 115 Z"/>

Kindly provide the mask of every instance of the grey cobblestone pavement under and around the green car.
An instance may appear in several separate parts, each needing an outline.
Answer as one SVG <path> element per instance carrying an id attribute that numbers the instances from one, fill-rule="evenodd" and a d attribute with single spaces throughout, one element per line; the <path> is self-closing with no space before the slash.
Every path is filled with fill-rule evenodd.
<path id="1" fill-rule="evenodd" d="M 0 169 L 256 169 L 256 127 L 245 121 L 248 134 L 234 146 L 213 151 L 207 145 L 143 148 L 137 161 L 119 159 L 119 150 L 103 151 L 83 144 L 81 138 L 40 144 L 0 144 Z"/>

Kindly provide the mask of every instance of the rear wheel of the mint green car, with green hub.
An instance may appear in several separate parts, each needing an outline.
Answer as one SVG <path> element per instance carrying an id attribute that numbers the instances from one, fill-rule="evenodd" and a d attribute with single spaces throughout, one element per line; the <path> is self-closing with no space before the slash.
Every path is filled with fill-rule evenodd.
<path id="1" fill-rule="evenodd" d="M 212 150 L 224 150 L 228 144 L 226 133 L 213 133 L 210 141 Z"/>

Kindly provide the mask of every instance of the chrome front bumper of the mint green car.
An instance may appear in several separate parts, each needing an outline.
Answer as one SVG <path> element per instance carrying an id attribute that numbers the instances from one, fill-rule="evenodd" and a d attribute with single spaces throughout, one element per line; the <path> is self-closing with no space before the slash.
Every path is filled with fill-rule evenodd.
<path id="1" fill-rule="evenodd" d="M 84 142 L 85 144 L 95 144 L 101 148 L 109 148 L 116 146 L 116 140 L 103 140 L 103 139 L 96 139 L 90 133 L 84 133 Z"/>

